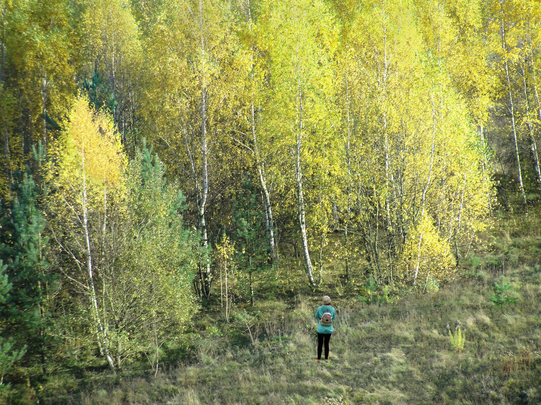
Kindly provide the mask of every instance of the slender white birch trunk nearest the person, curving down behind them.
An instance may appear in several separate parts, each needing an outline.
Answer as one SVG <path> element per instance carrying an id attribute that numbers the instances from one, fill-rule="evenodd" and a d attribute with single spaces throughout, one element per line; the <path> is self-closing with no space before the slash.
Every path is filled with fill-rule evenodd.
<path id="1" fill-rule="evenodd" d="M 310 260 L 310 253 L 308 251 L 308 238 L 306 236 L 306 217 L 305 217 L 305 204 L 304 195 L 302 193 L 302 170 L 301 170 L 301 148 L 302 148 L 302 86 L 300 75 L 300 60 L 299 60 L 299 43 L 297 42 L 297 75 L 299 82 L 299 107 L 298 107 L 298 119 L 299 119 L 299 131 L 297 133 L 297 141 L 295 146 L 295 177 L 297 183 L 297 218 L 299 221 L 299 230 L 301 232 L 302 253 L 304 254 L 306 275 L 308 281 L 312 287 L 315 287 L 312 260 Z"/>

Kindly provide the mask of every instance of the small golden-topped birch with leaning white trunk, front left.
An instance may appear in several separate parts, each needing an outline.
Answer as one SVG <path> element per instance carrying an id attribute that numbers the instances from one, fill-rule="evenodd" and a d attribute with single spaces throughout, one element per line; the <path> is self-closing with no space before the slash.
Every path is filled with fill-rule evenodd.
<path id="1" fill-rule="evenodd" d="M 93 116 L 87 100 L 79 99 L 70 113 L 70 126 L 56 152 L 61 159 L 56 179 L 57 192 L 52 194 L 51 211 L 67 227 L 50 228 L 57 246 L 67 254 L 75 273 L 65 277 L 87 296 L 91 330 L 100 354 L 111 370 L 117 361 L 111 354 L 107 316 L 100 305 L 93 228 L 106 227 L 107 188 L 121 181 L 122 154 L 111 123 L 102 115 Z M 54 172 L 51 172 L 54 174 Z M 96 215 L 96 207 L 103 207 Z M 98 211 L 99 212 L 99 211 Z M 97 224 L 96 224 L 97 222 Z"/>

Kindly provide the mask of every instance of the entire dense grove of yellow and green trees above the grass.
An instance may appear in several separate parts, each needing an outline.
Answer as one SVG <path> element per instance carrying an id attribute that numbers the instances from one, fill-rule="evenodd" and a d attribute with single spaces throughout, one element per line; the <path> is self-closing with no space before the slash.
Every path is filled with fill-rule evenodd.
<path id="1" fill-rule="evenodd" d="M 425 292 L 496 207 L 539 204 L 538 0 L 0 18 L 0 385 L 38 357 L 157 373 L 202 305 L 228 319 L 273 289 Z"/>

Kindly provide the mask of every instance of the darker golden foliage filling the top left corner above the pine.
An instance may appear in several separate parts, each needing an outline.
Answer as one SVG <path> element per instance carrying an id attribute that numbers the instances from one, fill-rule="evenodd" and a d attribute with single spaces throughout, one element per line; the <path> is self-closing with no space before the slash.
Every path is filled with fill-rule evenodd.
<path id="1" fill-rule="evenodd" d="M 24 170 L 32 144 L 60 132 L 75 89 L 76 33 L 69 2 L 0 2 L 0 198 L 12 172 Z M 9 197 L 8 197 L 9 198 Z"/>

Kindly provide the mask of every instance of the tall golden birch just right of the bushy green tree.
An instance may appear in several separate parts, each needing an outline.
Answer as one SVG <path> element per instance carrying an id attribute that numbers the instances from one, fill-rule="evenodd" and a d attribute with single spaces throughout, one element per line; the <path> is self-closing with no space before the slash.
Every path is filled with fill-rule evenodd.
<path id="1" fill-rule="evenodd" d="M 240 88 L 237 42 L 226 29 L 231 11 L 223 2 L 198 0 L 166 2 L 155 12 L 146 44 L 143 115 L 170 170 L 192 183 L 188 205 L 202 246 L 208 248 L 207 210 L 217 179 L 213 170 L 225 156 L 220 151 L 229 143 L 226 131 Z M 207 299 L 213 281 L 210 259 L 200 267 L 194 286 Z"/>

